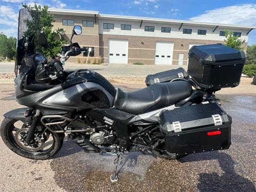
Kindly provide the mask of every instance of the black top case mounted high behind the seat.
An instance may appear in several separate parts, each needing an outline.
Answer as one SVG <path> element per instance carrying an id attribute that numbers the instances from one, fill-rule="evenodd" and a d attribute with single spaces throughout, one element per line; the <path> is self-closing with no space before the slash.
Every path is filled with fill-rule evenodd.
<path id="1" fill-rule="evenodd" d="M 222 44 L 193 46 L 188 53 L 188 74 L 203 89 L 239 84 L 246 55 Z"/>

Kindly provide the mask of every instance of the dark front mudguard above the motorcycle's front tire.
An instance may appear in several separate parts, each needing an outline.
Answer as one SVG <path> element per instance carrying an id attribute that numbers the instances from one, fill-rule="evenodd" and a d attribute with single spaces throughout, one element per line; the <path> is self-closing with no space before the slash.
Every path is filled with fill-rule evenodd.
<path id="1" fill-rule="evenodd" d="M 30 109 L 25 107 L 14 109 L 4 114 L 4 117 L 22 121 L 24 124 L 27 124 L 27 123 L 30 124 L 32 113 L 28 117 L 25 117 L 24 113 L 26 110 L 30 110 Z"/>

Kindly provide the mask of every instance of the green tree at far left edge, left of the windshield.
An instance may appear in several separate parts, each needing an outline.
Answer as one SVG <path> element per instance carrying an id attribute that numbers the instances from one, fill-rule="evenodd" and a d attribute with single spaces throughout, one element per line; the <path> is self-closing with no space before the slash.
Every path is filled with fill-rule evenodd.
<path id="1" fill-rule="evenodd" d="M 16 54 L 16 43 L 15 37 L 7 37 L 3 33 L 0 34 L 0 55 L 7 57 L 8 60 L 13 60 Z"/>

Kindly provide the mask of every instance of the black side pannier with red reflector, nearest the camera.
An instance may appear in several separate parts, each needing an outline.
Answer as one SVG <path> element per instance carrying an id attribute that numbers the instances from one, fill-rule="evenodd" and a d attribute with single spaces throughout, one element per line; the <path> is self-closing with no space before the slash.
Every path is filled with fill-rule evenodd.
<path id="1" fill-rule="evenodd" d="M 171 156 L 228 149 L 231 117 L 216 103 L 165 110 L 159 116 Z"/>

